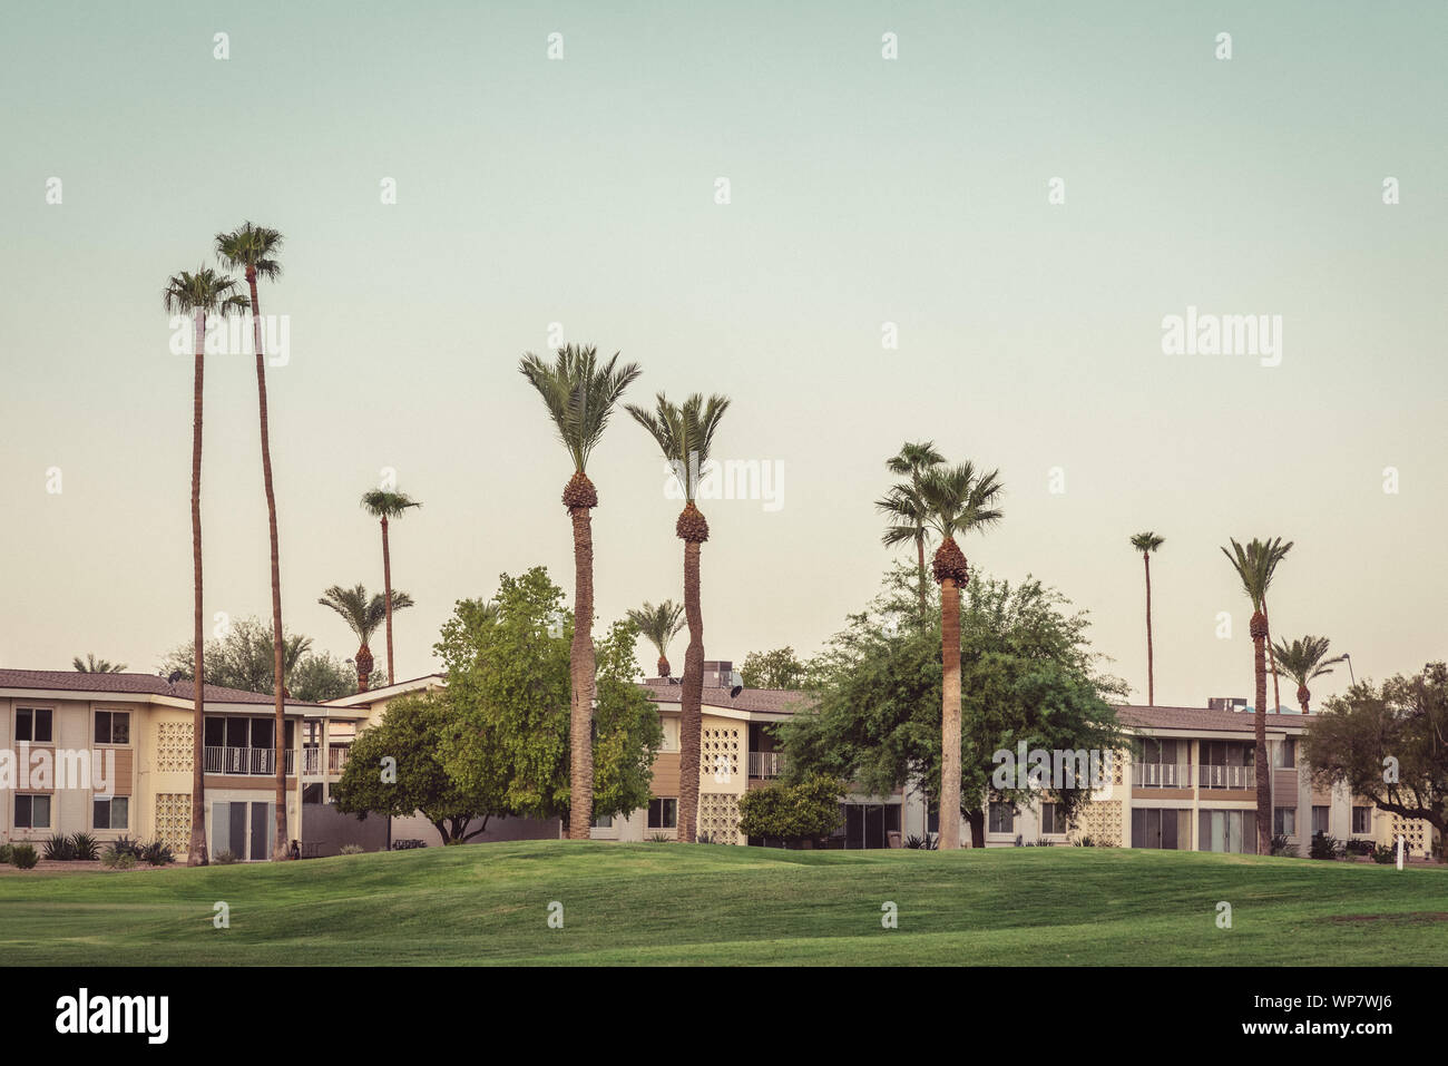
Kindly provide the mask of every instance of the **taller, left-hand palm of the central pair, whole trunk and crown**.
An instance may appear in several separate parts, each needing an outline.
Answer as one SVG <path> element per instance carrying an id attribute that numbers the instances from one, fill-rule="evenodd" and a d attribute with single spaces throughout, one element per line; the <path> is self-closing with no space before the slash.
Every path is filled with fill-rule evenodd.
<path id="1" fill-rule="evenodd" d="M 518 372 L 543 397 L 559 440 L 573 461 L 563 488 L 563 505 L 573 521 L 573 645 L 568 653 L 572 694 L 569 708 L 571 840 L 588 840 L 594 824 L 594 521 L 598 490 L 588 479 L 588 456 L 608 427 L 624 390 L 639 377 L 637 364 L 618 365 L 618 353 L 599 362 L 592 345 L 566 345 L 553 362 L 527 352 Z"/>

